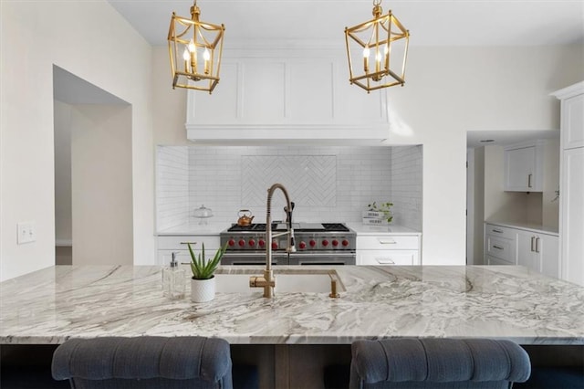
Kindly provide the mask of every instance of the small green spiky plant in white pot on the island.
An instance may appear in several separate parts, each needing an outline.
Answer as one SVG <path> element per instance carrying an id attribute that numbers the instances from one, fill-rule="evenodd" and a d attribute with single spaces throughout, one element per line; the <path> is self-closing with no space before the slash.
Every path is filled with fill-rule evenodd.
<path id="1" fill-rule="evenodd" d="M 188 243 L 189 252 L 191 253 L 191 300 L 194 302 L 211 301 L 215 297 L 215 279 L 214 272 L 221 263 L 221 258 L 227 249 L 227 245 L 220 247 L 215 252 L 214 258 L 206 260 L 204 257 L 204 243 L 201 252 L 197 256 L 194 254 L 193 247 Z"/>

